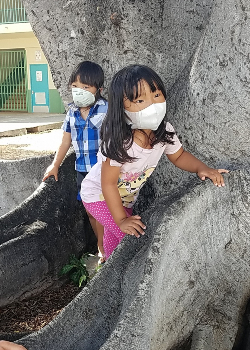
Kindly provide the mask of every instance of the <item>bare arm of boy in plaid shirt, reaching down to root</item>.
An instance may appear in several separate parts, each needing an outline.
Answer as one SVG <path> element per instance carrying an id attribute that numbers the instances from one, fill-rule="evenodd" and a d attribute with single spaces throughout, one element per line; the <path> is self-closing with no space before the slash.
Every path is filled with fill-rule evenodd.
<path id="1" fill-rule="evenodd" d="M 71 133 L 64 131 L 62 136 L 62 141 L 58 147 L 58 150 L 56 151 L 55 158 L 52 164 L 48 166 L 48 168 L 46 169 L 43 175 L 43 181 L 45 181 L 48 177 L 52 175 L 55 177 L 55 180 L 58 181 L 58 169 L 64 157 L 66 156 L 66 153 L 68 152 L 70 145 L 71 145 Z"/>

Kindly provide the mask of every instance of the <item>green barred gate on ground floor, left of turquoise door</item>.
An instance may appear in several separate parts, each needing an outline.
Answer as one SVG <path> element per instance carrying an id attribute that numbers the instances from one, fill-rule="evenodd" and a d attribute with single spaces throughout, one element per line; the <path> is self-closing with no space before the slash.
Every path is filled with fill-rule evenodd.
<path id="1" fill-rule="evenodd" d="M 25 50 L 0 50 L 0 111 L 27 111 Z"/>

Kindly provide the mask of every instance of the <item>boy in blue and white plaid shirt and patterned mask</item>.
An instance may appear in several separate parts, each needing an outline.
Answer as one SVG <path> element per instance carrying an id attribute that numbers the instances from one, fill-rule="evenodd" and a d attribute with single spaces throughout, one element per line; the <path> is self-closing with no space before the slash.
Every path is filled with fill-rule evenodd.
<path id="1" fill-rule="evenodd" d="M 69 80 L 74 102 L 69 105 L 69 111 L 62 125 L 61 144 L 43 177 L 43 181 L 45 181 L 53 175 L 58 181 L 59 166 L 72 143 L 76 153 L 78 200 L 81 200 L 79 195 L 81 182 L 97 162 L 100 128 L 108 109 L 107 101 L 101 96 L 103 83 L 103 70 L 94 62 L 81 62 L 74 69 Z M 99 263 L 104 263 L 103 227 L 90 213 L 88 216 L 98 240 Z"/>

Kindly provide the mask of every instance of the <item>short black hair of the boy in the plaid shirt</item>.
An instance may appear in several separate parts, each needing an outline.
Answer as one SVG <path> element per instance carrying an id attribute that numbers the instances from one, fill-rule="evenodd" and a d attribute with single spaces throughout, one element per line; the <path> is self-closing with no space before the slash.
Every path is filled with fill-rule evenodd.
<path id="1" fill-rule="evenodd" d="M 100 88 L 104 83 L 104 72 L 99 64 L 91 61 L 83 61 L 79 63 L 69 78 L 69 86 L 71 86 L 78 79 L 82 84 L 88 84 L 90 86 L 94 86 L 97 89 L 95 95 L 96 101 L 99 98 L 103 98 L 100 93 Z"/>

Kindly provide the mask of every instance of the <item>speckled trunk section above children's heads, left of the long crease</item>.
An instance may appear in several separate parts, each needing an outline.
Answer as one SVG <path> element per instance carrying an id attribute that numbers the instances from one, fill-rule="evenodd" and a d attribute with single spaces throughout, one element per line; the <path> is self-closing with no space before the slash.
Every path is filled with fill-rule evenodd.
<path id="1" fill-rule="evenodd" d="M 157 69 L 170 88 L 203 36 L 212 0 L 24 0 L 30 23 L 64 99 L 73 67 L 85 59 L 105 70 L 106 86 L 128 63 Z"/>

